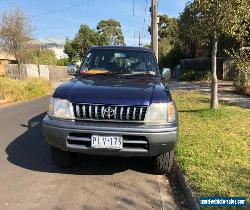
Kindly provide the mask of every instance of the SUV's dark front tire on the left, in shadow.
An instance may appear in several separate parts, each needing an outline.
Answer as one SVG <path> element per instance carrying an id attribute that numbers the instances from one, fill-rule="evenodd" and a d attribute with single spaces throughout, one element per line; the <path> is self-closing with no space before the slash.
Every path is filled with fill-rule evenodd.
<path id="1" fill-rule="evenodd" d="M 77 153 L 66 152 L 50 146 L 50 152 L 54 164 L 59 168 L 70 168 L 76 160 Z"/>

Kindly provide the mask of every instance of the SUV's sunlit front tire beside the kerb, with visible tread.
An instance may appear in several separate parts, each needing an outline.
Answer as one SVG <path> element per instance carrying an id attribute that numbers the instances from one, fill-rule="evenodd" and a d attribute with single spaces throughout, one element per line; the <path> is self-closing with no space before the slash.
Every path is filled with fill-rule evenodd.
<path id="1" fill-rule="evenodd" d="M 156 174 L 169 174 L 174 162 L 174 150 L 163 153 L 154 158 L 154 167 Z"/>

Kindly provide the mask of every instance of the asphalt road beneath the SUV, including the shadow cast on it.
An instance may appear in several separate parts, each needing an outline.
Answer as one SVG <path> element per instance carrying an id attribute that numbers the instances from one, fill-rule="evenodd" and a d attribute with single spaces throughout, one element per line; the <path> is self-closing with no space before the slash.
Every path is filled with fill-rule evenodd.
<path id="1" fill-rule="evenodd" d="M 138 158 L 51 161 L 41 120 L 48 97 L 0 107 L 0 209 L 176 209 L 164 176 Z"/>

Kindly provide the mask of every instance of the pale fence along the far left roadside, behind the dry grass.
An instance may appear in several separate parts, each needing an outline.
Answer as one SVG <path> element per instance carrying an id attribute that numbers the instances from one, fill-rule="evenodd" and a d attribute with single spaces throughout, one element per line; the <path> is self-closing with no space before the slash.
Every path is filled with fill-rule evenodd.
<path id="1" fill-rule="evenodd" d="M 21 64 L 18 69 L 17 64 L 6 64 L 4 70 L 2 66 L 2 72 L 14 79 L 41 77 L 49 81 L 61 82 L 71 78 L 67 74 L 66 66 L 55 65 Z"/>

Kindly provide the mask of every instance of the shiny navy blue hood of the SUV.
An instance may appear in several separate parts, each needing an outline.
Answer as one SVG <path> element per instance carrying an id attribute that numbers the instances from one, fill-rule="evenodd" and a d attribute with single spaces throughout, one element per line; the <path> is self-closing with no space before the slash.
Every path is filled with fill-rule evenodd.
<path id="1" fill-rule="evenodd" d="M 130 106 L 172 100 L 159 78 L 75 78 L 60 85 L 53 96 L 72 103 Z"/>

